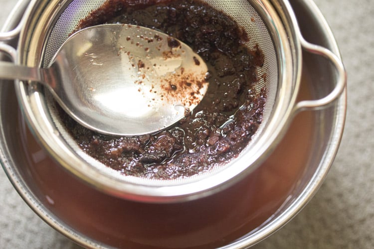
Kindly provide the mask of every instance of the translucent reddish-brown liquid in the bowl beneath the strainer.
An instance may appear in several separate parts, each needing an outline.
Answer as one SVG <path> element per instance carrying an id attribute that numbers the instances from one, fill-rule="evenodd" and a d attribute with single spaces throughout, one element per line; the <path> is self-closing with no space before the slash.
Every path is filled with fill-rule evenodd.
<path id="1" fill-rule="evenodd" d="M 306 86 L 302 91 L 301 98 L 308 98 Z M 213 248 L 257 228 L 287 199 L 305 170 L 313 121 L 310 112 L 298 115 L 272 155 L 241 182 L 179 204 L 137 203 L 87 186 L 47 156 L 29 130 L 22 130 L 22 119 L 17 138 L 27 148 L 41 203 L 74 230 L 120 248 Z"/>

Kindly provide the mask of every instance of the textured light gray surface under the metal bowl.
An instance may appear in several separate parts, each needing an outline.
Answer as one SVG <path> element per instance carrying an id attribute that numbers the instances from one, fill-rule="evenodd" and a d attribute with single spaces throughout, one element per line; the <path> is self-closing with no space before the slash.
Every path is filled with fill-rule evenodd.
<path id="1" fill-rule="evenodd" d="M 348 71 L 348 114 L 336 160 L 311 202 L 255 249 L 374 248 L 374 2 L 315 0 Z M 15 0 L 0 0 L 2 25 Z M 41 221 L 0 170 L 0 249 L 79 248 Z"/>

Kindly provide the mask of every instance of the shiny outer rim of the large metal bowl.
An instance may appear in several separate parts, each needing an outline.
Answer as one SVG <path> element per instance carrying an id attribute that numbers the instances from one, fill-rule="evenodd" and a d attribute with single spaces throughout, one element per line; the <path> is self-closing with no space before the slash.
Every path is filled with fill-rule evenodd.
<path id="1" fill-rule="evenodd" d="M 10 29 L 14 26 L 14 24 L 18 21 L 22 16 L 24 8 L 27 6 L 29 0 L 20 0 L 19 4 L 17 4 L 17 8 L 14 9 L 12 15 L 8 17 L 7 22 L 5 23 L 3 30 Z M 321 30 L 325 35 L 326 41 L 328 42 L 329 48 L 339 55 L 339 48 L 333 36 L 333 33 L 328 26 L 324 16 L 316 6 L 316 4 L 312 0 L 306 0 L 303 3 L 307 9 L 310 10 L 311 15 L 316 21 L 319 23 Z M 1 91 L 1 88 L 0 88 Z M 270 236 L 272 233 L 280 229 L 284 226 L 292 217 L 294 217 L 314 196 L 316 191 L 319 189 L 320 185 L 322 184 L 323 180 L 328 173 L 333 160 L 336 156 L 338 151 L 338 147 L 342 138 L 344 123 L 346 118 L 346 110 L 347 110 L 347 89 L 344 91 L 343 95 L 339 98 L 337 102 L 335 102 L 334 107 L 337 109 L 337 117 L 335 119 L 335 123 L 333 125 L 335 128 L 333 129 L 333 135 L 331 137 L 331 142 L 329 143 L 328 148 L 326 149 L 324 160 L 320 162 L 318 170 L 316 174 L 313 176 L 312 179 L 309 180 L 309 184 L 305 187 L 302 195 L 299 196 L 296 200 L 290 204 L 289 208 L 283 212 L 277 220 L 272 223 L 266 224 L 264 228 L 261 228 L 255 231 L 251 236 L 248 238 L 244 238 L 239 240 L 231 245 L 228 245 L 223 248 L 244 248 L 248 246 L 252 246 L 261 240 L 265 239 L 266 237 Z M 2 128 L 1 124 L 0 127 Z M 2 130 L 1 130 L 2 131 Z M 3 136 L 1 132 L 1 136 Z M 27 187 L 27 184 L 23 181 L 22 176 L 16 170 L 14 165 L 11 165 L 11 161 L 7 160 L 9 154 L 6 148 L 6 144 L 0 143 L 1 150 L 0 150 L 0 159 L 1 165 L 9 178 L 10 182 L 17 190 L 19 195 L 22 199 L 31 207 L 31 209 L 38 214 L 46 223 L 48 223 L 51 227 L 59 231 L 60 233 L 64 234 L 66 237 L 72 239 L 73 241 L 77 242 L 82 246 L 87 247 L 96 247 L 96 248 L 104 248 L 100 243 L 94 242 L 87 237 L 76 233 L 75 231 L 71 230 L 68 226 L 63 224 L 59 221 L 56 217 L 50 214 L 48 210 L 41 205 L 38 200 L 35 198 L 34 194 L 31 190 Z"/>

